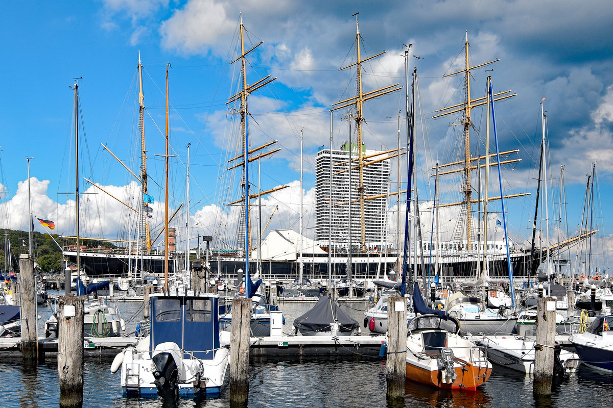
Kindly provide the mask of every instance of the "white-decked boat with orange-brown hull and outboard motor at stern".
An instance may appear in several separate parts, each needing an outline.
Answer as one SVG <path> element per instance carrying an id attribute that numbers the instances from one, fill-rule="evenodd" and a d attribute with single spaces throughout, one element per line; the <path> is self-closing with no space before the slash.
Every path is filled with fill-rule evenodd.
<path id="1" fill-rule="evenodd" d="M 485 353 L 460 335 L 460 321 L 452 316 L 414 317 L 406 349 L 406 378 L 421 384 L 476 390 L 492 374 Z"/>

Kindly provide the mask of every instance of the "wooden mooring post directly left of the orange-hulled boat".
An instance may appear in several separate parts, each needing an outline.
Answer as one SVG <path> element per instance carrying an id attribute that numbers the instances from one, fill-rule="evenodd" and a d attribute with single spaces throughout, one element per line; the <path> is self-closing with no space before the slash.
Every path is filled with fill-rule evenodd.
<path id="1" fill-rule="evenodd" d="M 387 299 L 387 399 L 404 399 L 406 382 L 406 300 Z"/>

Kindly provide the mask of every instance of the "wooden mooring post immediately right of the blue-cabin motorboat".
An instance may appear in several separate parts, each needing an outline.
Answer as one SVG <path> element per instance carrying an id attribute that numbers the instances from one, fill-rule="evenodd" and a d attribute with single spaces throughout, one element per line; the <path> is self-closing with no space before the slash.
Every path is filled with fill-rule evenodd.
<path id="1" fill-rule="evenodd" d="M 230 333 L 230 406 L 247 406 L 249 396 L 249 333 L 251 299 L 232 300 Z"/>

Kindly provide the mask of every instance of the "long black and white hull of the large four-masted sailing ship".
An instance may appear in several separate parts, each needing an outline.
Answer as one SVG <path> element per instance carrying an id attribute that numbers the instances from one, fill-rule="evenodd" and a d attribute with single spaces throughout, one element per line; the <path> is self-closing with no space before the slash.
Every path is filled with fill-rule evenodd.
<path id="1" fill-rule="evenodd" d="M 181 254 L 183 255 L 183 254 Z M 77 252 L 64 250 L 64 259 L 69 263 L 75 263 Z M 129 251 L 115 250 L 112 252 L 96 251 L 93 248 L 80 251 L 80 262 L 85 270 L 85 273 L 90 278 L 125 278 L 129 276 L 140 276 L 148 274 L 164 273 L 164 254 L 132 254 Z M 204 257 L 204 256 L 203 256 Z M 395 271 L 398 256 L 397 254 L 387 254 L 380 256 L 376 253 L 360 253 L 332 257 L 332 276 L 348 275 L 348 265 L 351 265 L 350 275 L 358 279 L 376 279 L 378 276 L 388 275 Z M 476 254 L 455 253 L 439 255 L 438 257 L 438 274 L 440 276 L 454 277 L 470 277 L 474 276 L 474 271 L 477 270 L 479 258 Z M 177 254 L 172 253 L 169 256 L 169 270 L 175 269 Z M 183 258 L 178 264 L 183 265 Z M 328 257 L 327 254 L 317 254 L 309 256 L 303 254 L 303 273 L 304 276 L 328 276 Z M 493 255 L 490 258 L 490 276 L 492 278 L 508 278 L 508 266 L 506 255 Z M 216 256 L 211 254 L 209 258 L 211 275 L 221 276 L 238 276 L 238 270 L 245 269 L 245 258 L 243 257 L 227 257 Z M 513 275 L 515 277 L 527 277 L 530 275 L 530 270 L 536 270 L 539 260 L 531 259 L 529 253 L 514 253 L 511 254 L 511 264 Z M 435 275 L 435 264 L 424 261 L 425 275 Z M 256 262 L 251 262 L 249 272 L 255 273 L 257 269 Z M 294 259 L 273 260 L 262 259 L 262 273 L 268 278 L 290 279 L 299 275 L 300 262 L 299 256 Z M 418 269 L 417 275 L 421 276 L 421 270 Z"/>

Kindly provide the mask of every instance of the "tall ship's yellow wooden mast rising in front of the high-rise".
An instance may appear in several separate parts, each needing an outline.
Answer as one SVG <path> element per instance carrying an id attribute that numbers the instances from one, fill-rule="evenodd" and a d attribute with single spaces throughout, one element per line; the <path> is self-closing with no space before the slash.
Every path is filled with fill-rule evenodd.
<path id="1" fill-rule="evenodd" d="M 364 102 L 366 102 L 367 100 L 376 98 L 376 97 L 379 97 L 385 94 L 389 94 L 390 92 L 398 91 L 399 89 L 402 89 L 402 87 L 398 86 L 398 84 L 394 84 L 394 85 L 390 85 L 390 86 L 378 89 L 377 91 L 368 92 L 367 94 L 364 94 L 364 92 L 362 91 L 362 62 L 366 62 L 370 59 L 378 57 L 381 54 L 386 53 L 386 51 L 383 51 L 371 57 L 362 59 L 362 56 L 360 54 L 360 27 L 357 21 L 357 15 L 358 13 L 354 14 L 354 16 L 356 16 L 357 61 L 355 64 L 350 64 L 350 65 L 347 65 L 346 67 L 339 69 L 339 71 L 341 71 L 341 70 L 345 70 L 349 67 L 353 67 L 354 65 L 356 65 L 357 67 L 356 97 L 334 103 L 332 106 L 335 106 L 335 108 L 330 109 L 330 111 L 335 111 L 337 109 L 345 108 L 346 106 L 352 106 L 352 105 L 356 106 L 356 115 L 354 116 L 353 119 L 354 121 L 356 121 L 356 131 L 357 131 L 357 150 L 358 150 L 358 154 L 357 154 L 358 155 L 358 158 L 357 158 L 358 160 L 357 192 L 358 192 L 359 200 L 360 200 L 360 229 L 361 229 L 361 238 L 362 238 L 361 244 L 360 244 L 361 245 L 360 250 L 362 252 L 365 252 L 366 251 L 366 226 L 365 226 L 365 213 L 364 213 L 364 193 L 365 193 L 364 166 L 365 166 L 365 163 L 364 163 L 364 152 L 362 152 L 362 122 L 364 121 L 364 116 L 362 115 L 362 108 L 364 106 Z M 340 105 L 340 106 L 337 106 L 337 105 Z M 349 142 L 349 149 L 351 149 L 351 141 Z M 349 178 L 351 179 L 351 171 L 349 172 Z M 349 234 L 351 235 L 351 225 L 349 226 Z"/>

